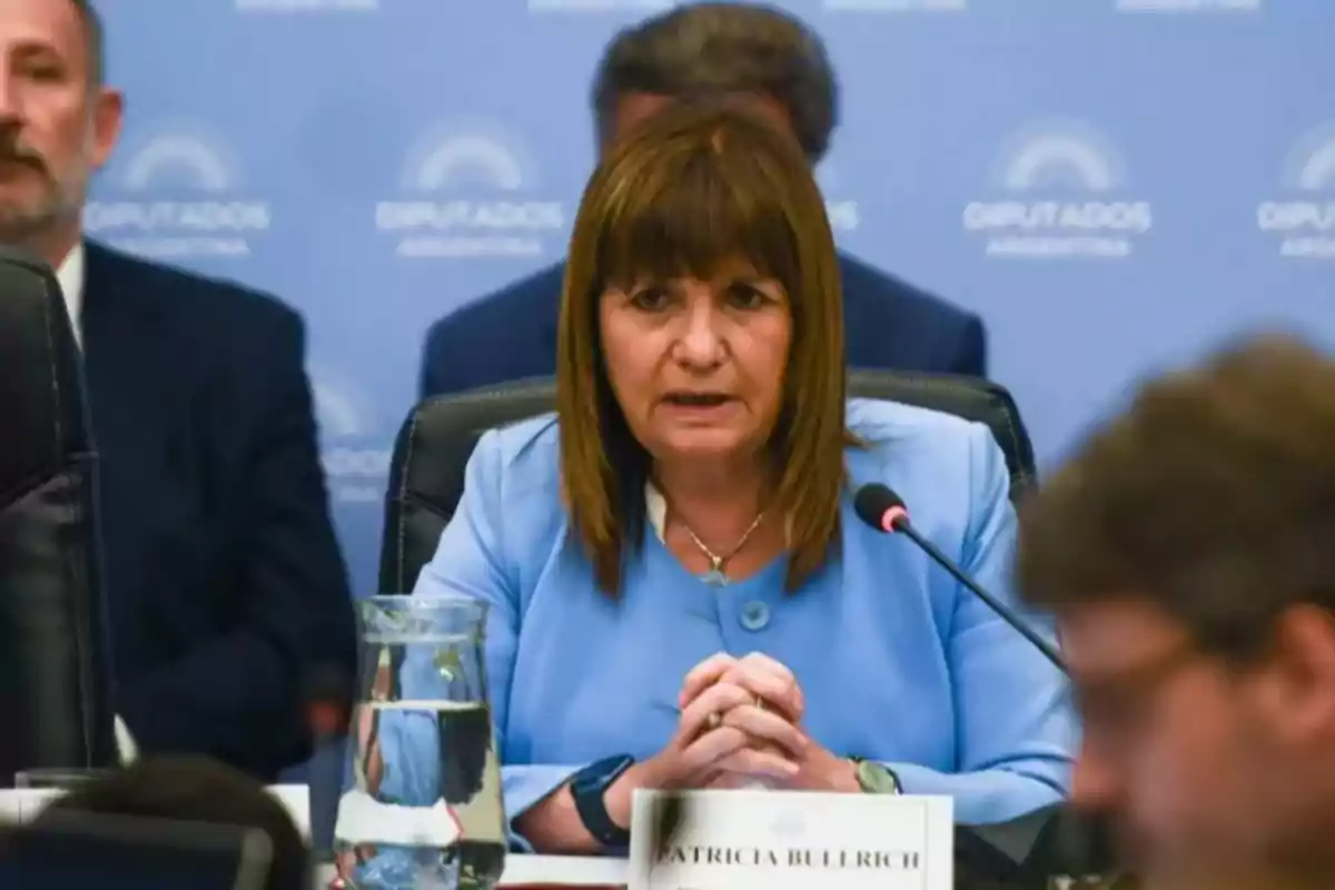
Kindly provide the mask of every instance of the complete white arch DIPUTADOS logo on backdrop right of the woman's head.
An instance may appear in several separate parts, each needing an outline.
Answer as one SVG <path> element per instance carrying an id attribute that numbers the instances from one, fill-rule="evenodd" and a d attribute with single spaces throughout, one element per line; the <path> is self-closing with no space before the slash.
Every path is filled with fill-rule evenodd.
<path id="1" fill-rule="evenodd" d="M 1005 139 L 964 230 L 993 259 L 1127 259 L 1153 226 L 1120 152 L 1083 121 L 1039 121 Z"/>

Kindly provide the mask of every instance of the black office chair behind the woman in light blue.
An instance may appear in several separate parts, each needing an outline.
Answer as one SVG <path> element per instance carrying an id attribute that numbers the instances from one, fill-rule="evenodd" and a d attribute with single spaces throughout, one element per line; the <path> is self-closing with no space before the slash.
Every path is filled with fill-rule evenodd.
<path id="1" fill-rule="evenodd" d="M 904 402 L 980 420 L 992 430 L 1007 467 L 1011 496 L 1035 484 L 1033 446 L 1005 387 L 979 378 L 853 371 L 849 394 Z M 407 592 L 435 554 L 441 531 L 463 494 L 463 468 L 487 430 L 555 410 L 550 378 L 517 380 L 427 399 L 409 414 L 394 444 L 380 547 L 380 590 Z"/>

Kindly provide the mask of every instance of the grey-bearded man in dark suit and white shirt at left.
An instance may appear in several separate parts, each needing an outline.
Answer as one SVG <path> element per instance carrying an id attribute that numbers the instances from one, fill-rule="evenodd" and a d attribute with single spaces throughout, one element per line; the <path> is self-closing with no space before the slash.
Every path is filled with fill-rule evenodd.
<path id="1" fill-rule="evenodd" d="M 85 0 L 4 0 L 0 51 L 0 240 L 57 270 L 84 350 L 121 747 L 271 779 L 310 753 L 304 685 L 355 663 L 302 320 L 83 240 L 123 113 Z"/>

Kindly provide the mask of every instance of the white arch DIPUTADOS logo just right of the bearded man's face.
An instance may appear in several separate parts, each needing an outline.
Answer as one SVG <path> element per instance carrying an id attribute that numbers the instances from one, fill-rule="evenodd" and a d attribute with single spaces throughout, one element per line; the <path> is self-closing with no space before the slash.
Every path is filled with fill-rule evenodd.
<path id="1" fill-rule="evenodd" d="M 84 207 L 84 230 L 142 256 L 250 256 L 270 230 L 232 147 L 202 124 L 164 124 L 128 140 Z"/>

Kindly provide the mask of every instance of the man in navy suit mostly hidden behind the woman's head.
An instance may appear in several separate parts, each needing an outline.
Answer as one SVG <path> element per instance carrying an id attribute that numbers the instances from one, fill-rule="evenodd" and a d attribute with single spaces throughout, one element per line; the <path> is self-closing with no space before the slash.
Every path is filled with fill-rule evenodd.
<path id="1" fill-rule="evenodd" d="M 754 99 L 790 128 L 816 164 L 837 119 L 837 84 L 820 39 L 766 5 L 701 3 L 622 31 L 593 89 L 603 148 L 682 96 Z M 984 376 L 979 316 L 841 256 L 848 360 L 853 367 Z M 558 263 L 437 322 L 426 340 L 422 395 L 555 371 Z"/>

